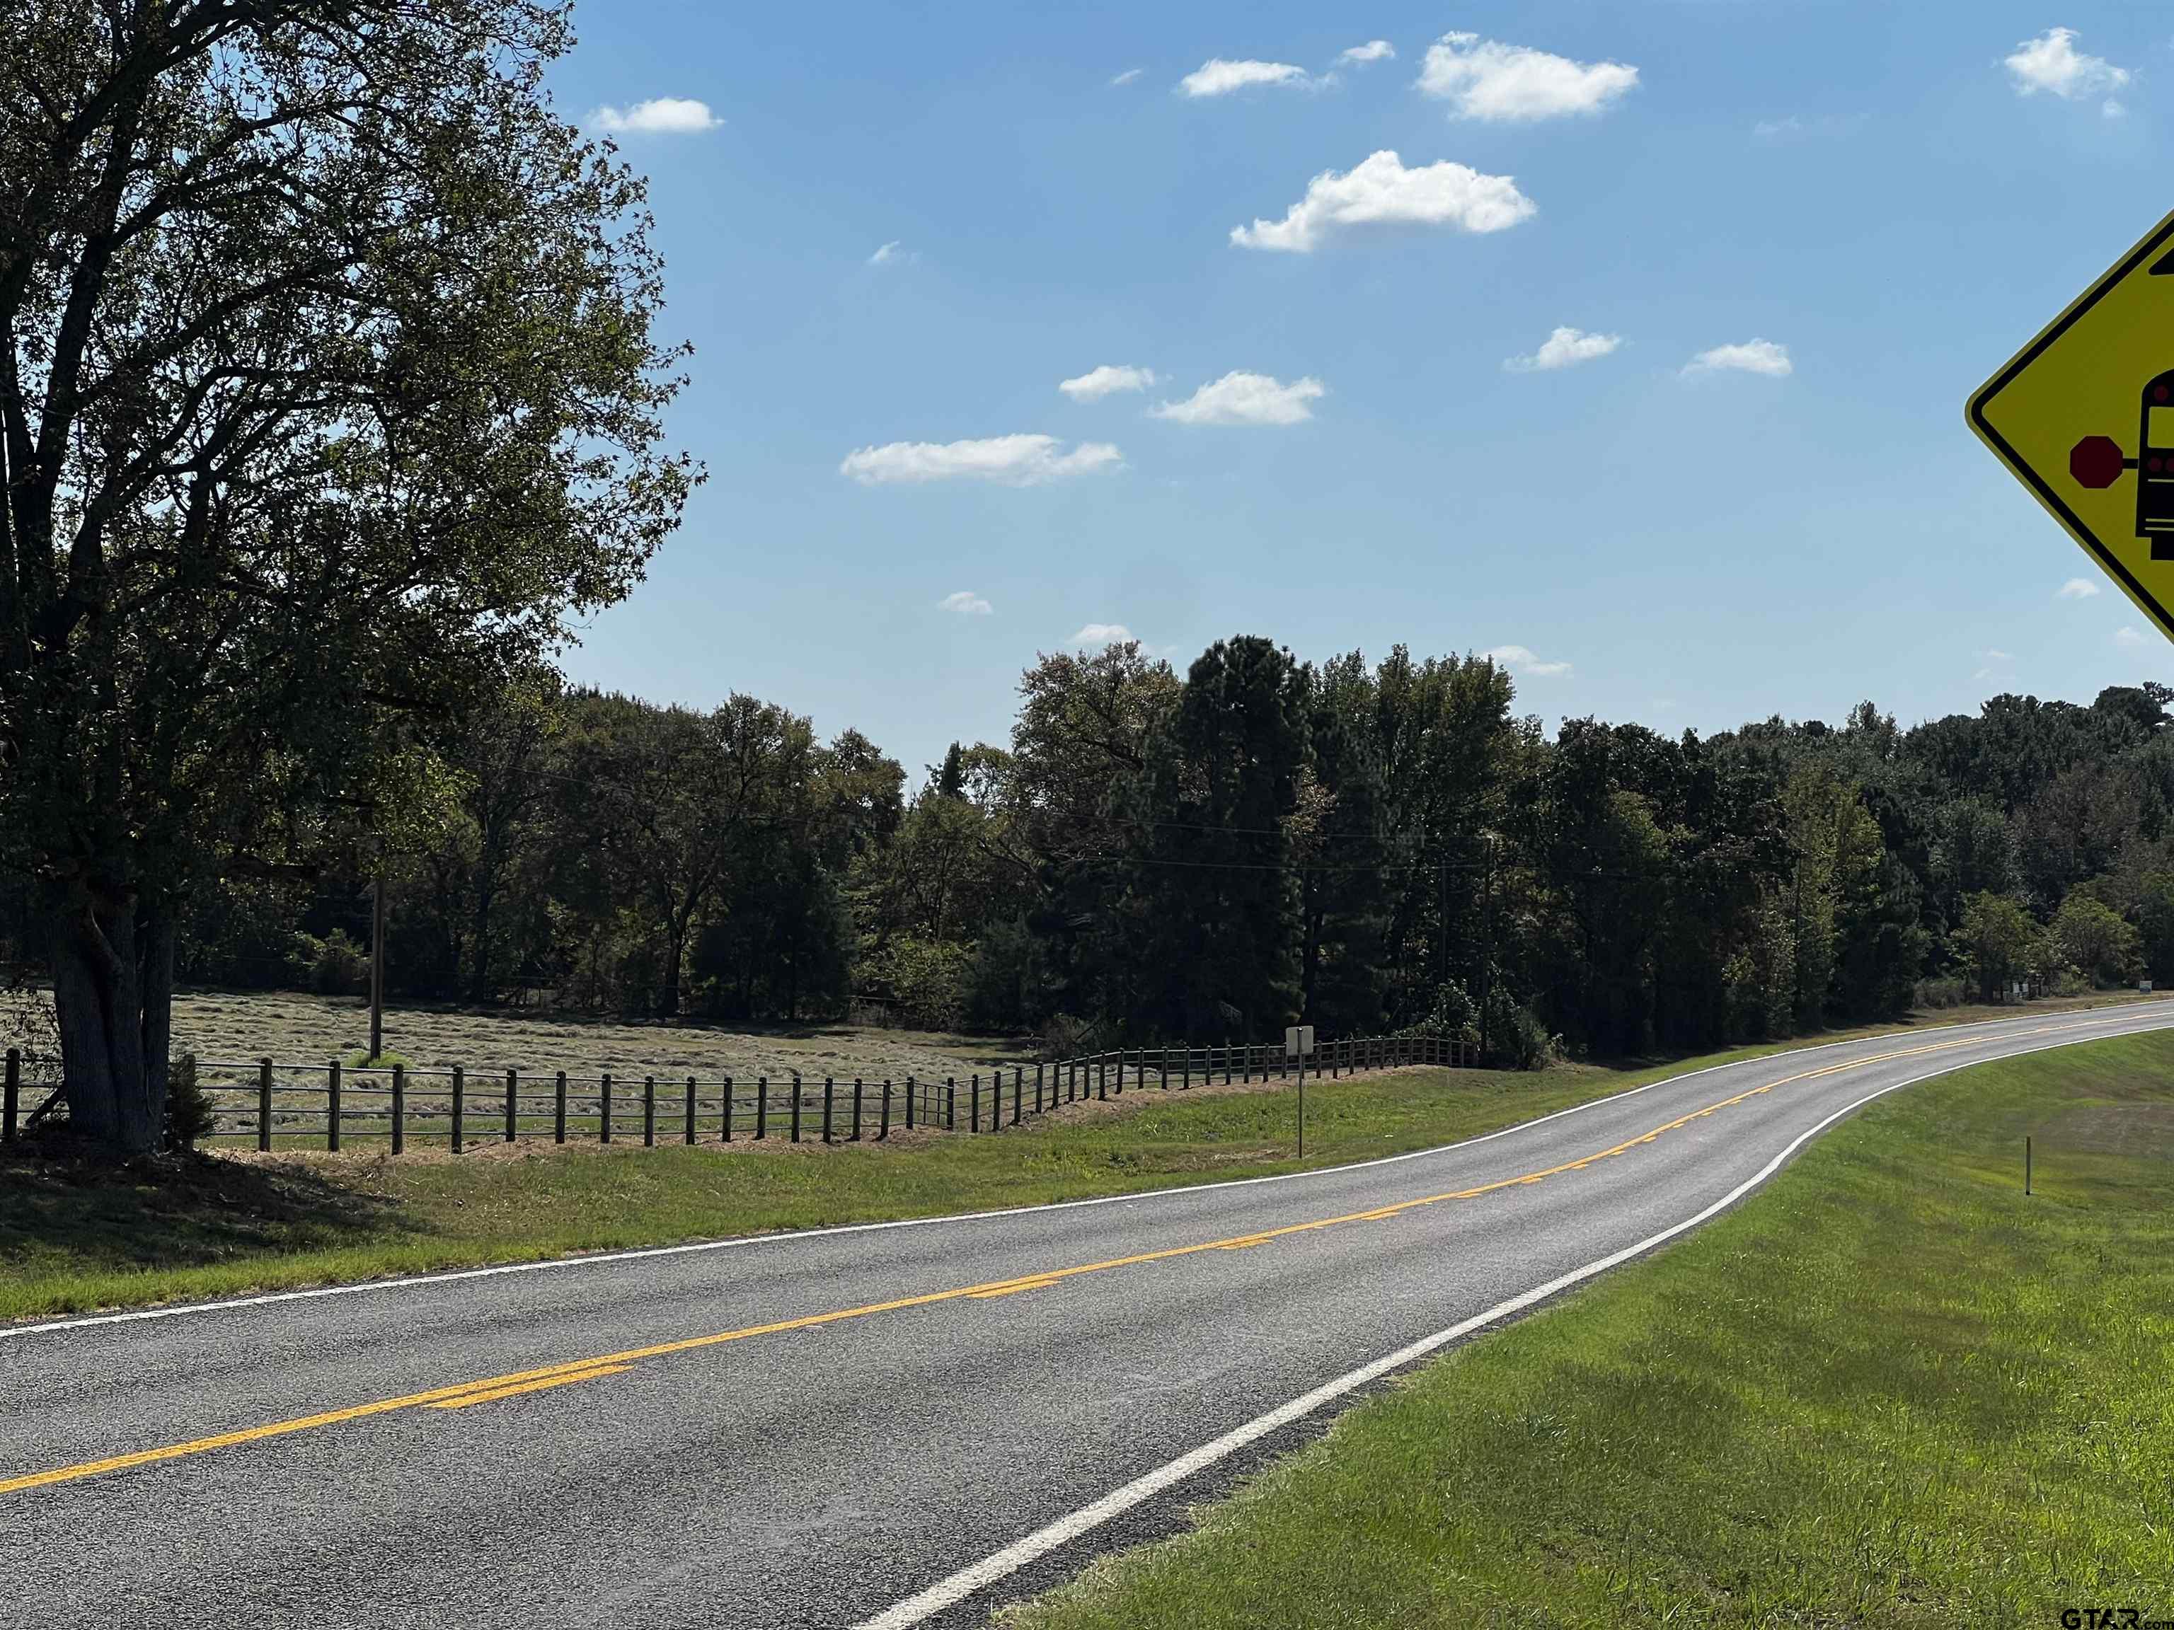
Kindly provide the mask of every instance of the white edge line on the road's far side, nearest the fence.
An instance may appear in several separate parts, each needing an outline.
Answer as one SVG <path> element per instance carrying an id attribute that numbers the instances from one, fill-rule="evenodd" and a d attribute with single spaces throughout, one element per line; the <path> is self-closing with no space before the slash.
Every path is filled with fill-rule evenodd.
<path id="1" fill-rule="evenodd" d="M 2174 998 L 2167 998 L 2174 1000 Z M 1607 1098 L 1589 1098 L 1583 1104 L 1567 1104 L 1548 1115 L 1537 1115 L 1530 1121 L 1517 1121 L 1515 1126 L 1502 1126 L 1494 1132 L 1480 1132 L 1476 1137 L 1459 1139 L 1457 1143 L 1437 1143 L 1426 1150 L 1407 1150 L 1404 1154 L 1383 1154 L 1374 1161 L 1352 1161 L 1350 1165 L 1324 1165 L 1307 1171 L 1276 1171 L 1265 1178 L 1224 1178 L 1220 1182 L 1187 1182 L 1170 1189 L 1141 1189 L 1135 1193 L 1109 1193 L 1094 1195 L 1091 1200 L 1048 1200 L 1037 1206 L 1000 1206 L 996 1211 L 950 1211 L 935 1217 L 896 1217 L 891 1221 L 872 1224 L 837 1224 L 835 1228 L 796 1228 L 776 1234 L 739 1234 L 735 1239 L 698 1239 L 687 1245 L 644 1245 L 639 1250 L 624 1252 L 591 1252 L 583 1256 L 546 1256 L 537 1263 L 496 1263 L 491 1267 L 461 1267 L 448 1269 L 443 1274 L 407 1274 L 398 1278 L 363 1280 L 359 1284 L 317 1284 L 307 1291 L 265 1291 L 263 1295 L 237 1295 L 222 1302 L 176 1302 L 172 1306 L 159 1308 L 124 1308 L 117 1313 L 89 1313 L 76 1319 L 48 1319 L 43 1324 L 7 1324 L 0 1326 L 0 1341 L 11 1337 L 43 1337 L 59 1334 L 65 1330 L 93 1330 L 113 1324 L 150 1324 L 157 1319 L 180 1319 L 198 1313 L 237 1313 L 241 1308 L 263 1308 L 278 1306 L 280 1302 L 320 1302 L 335 1295 L 367 1295 L 372 1291 L 411 1291 L 428 1284 L 457 1284 L 461 1280 L 489 1280 L 504 1278 L 509 1274 L 541 1274 L 546 1269 L 565 1267 L 607 1267 L 611 1263 L 641 1263 L 659 1256 L 694 1256 L 700 1252 L 724 1252 L 724 1250 L 748 1250 L 754 1245 L 791 1245 L 802 1239 L 830 1239 L 835 1234 L 874 1234 L 891 1228 L 935 1228 L 937 1224 L 967 1224 L 987 1221 L 991 1217 L 1026 1217 L 1037 1211 L 1083 1211 L 1087 1206 L 1120 1206 L 1120 1204 L 1141 1204 L 1154 1200 L 1185 1200 L 1189 1195 L 1215 1193 L 1220 1189 L 1252 1189 L 1265 1182 L 1296 1182 L 1302 1178 L 1333 1178 L 1344 1171 L 1370 1171 L 1374 1167 L 1400 1165 L 1404 1161 L 1426 1161 L 1437 1154 L 1452 1154 L 1457 1150 L 1470 1150 L 1478 1143 L 1494 1143 L 1498 1137 L 1511 1137 L 1513 1132 L 1528 1132 L 1535 1126 L 1546 1126 L 1548 1121 L 1559 1121 L 1565 1115 L 1580 1115 L 1589 1108 L 1602 1108 L 1607 1104 L 1620 1104 L 1626 1098 L 1637 1098 L 1639 1093 L 1650 1093 L 1657 1087 L 1674 1087 L 1681 1080 L 1694 1080 L 1698 1076 L 1711 1076 L 1717 1069 L 1744 1069 L 1746 1065 L 1763 1065 L 1774 1058 L 1796 1058 L 1807 1052 L 1828 1052 L 1833 1048 L 1865 1048 L 1881 1041 L 1907 1041 L 1911 1037 L 1931 1035 L 1935 1030 L 1976 1030 L 1994 1026 L 2017 1026 L 2031 1019 L 2065 1019 L 2070 1015 L 2102 1013 L 2107 1019 L 2128 1017 L 2137 1008 L 2150 1008 L 2152 1002 L 2122 1002 L 2111 1004 L 2111 1008 L 2065 1008 L 2059 1013 L 2028 1013 L 2015 1019 L 1967 1019 L 1957 1024 L 1928 1024 L 1920 1030 L 1896 1030 L 1878 1037 L 1850 1037 L 1846 1041 L 1820 1041 L 1811 1048 L 1776 1048 L 1774 1052 L 1763 1052 L 1754 1058 L 1735 1058 L 1724 1065 L 1704 1065 L 1700 1069 L 1685 1069 L 1681 1076 L 1663 1076 L 1661 1080 L 1648 1080 L 1644 1087 L 1626 1087 L 1620 1093 L 1609 1093 Z M 2120 1008 L 2120 1011 L 2113 1011 Z M 2163 1015 L 2154 1015 L 2163 1017 Z M 2170 1019 L 2174 1024 L 2174 1019 Z M 2163 1030 L 2165 1024 L 2146 1026 L 2150 1030 Z M 2000 1041 L 2000 1032 L 1985 1037 L 1987 1041 Z M 2083 1037 L 2078 1037 L 2081 1041 Z M 2065 1045 L 2065 1043 L 2057 1043 Z M 2037 1048 L 2024 1048 L 2022 1052 L 2037 1052 Z M 2022 1052 L 2007 1054 L 2020 1058 Z M 1989 1061 L 1985 1061 L 1989 1063 Z M 722 1145 L 720 1145 L 722 1148 Z"/>

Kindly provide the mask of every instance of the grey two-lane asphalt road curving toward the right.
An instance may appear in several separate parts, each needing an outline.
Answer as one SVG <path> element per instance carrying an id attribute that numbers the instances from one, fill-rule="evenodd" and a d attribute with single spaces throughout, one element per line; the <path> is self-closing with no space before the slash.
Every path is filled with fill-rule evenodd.
<path id="1" fill-rule="evenodd" d="M 1265 1182 L 0 1330 L 0 1623 L 983 1623 L 1867 1095 L 2163 1026 L 1776 1054 Z"/>

